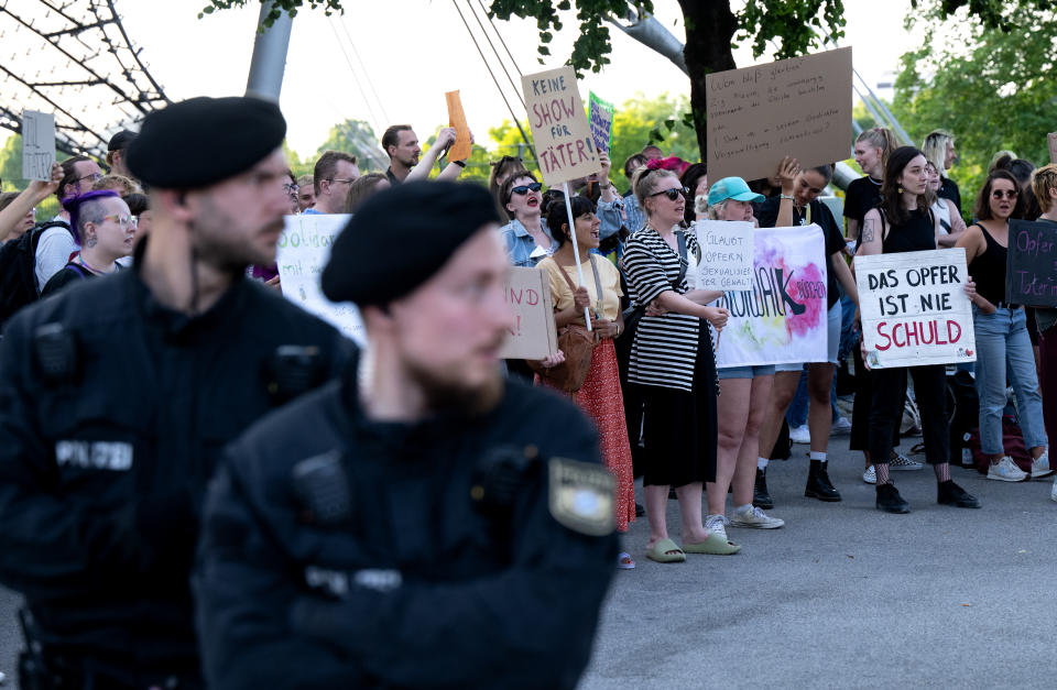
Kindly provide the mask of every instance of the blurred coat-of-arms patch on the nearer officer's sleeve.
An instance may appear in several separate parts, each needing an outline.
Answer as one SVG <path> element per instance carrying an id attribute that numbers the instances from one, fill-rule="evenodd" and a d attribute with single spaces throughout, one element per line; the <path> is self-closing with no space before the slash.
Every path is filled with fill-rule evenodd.
<path id="1" fill-rule="evenodd" d="M 549 507 L 554 519 L 573 532 L 591 537 L 610 534 L 615 526 L 613 496 L 617 482 L 609 470 L 565 458 L 552 458 L 548 469 Z"/>

